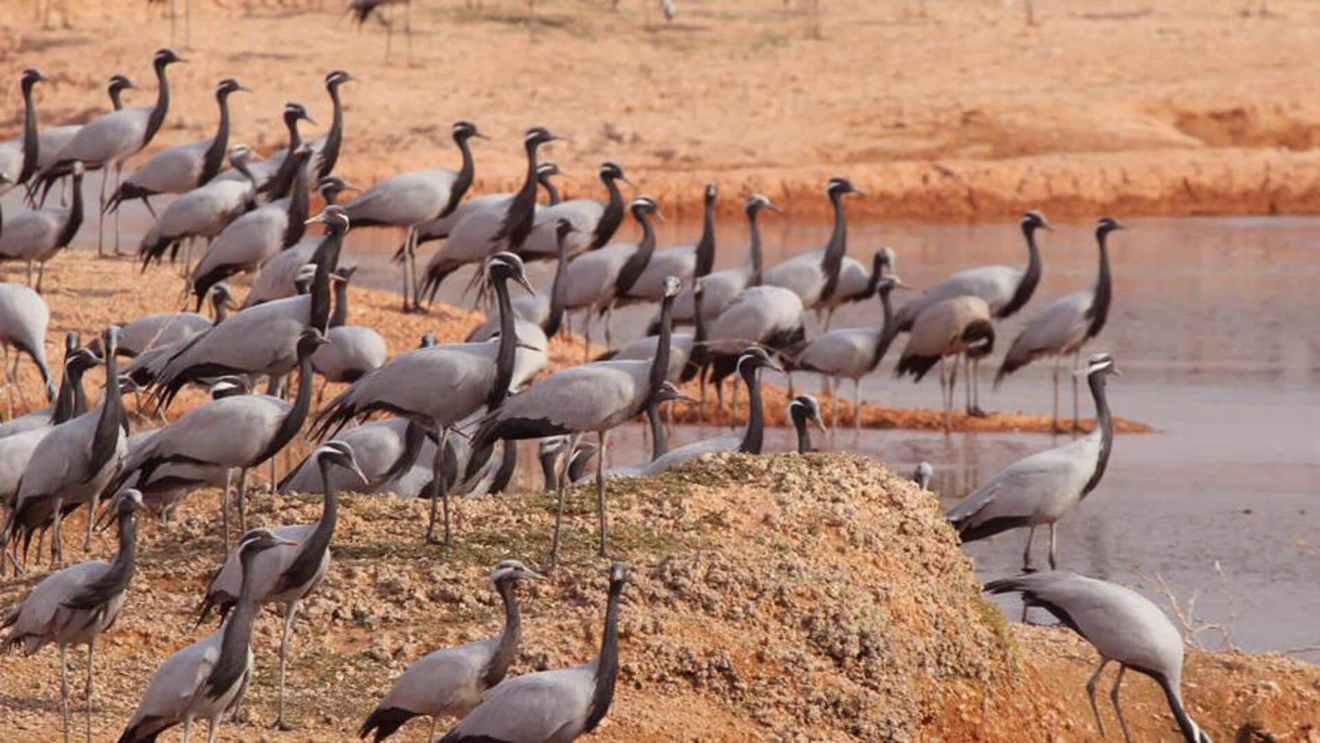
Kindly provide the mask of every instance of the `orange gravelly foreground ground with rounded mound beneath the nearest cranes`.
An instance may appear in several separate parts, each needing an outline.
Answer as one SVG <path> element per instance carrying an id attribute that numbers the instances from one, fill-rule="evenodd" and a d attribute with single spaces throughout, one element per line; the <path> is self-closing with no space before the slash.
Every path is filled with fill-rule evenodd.
<path id="1" fill-rule="evenodd" d="M 619 689 L 595 739 L 1101 739 L 1084 692 L 1094 652 L 1064 630 L 1006 624 L 978 597 L 933 495 L 874 461 L 725 457 L 611 488 L 611 550 L 632 578 Z M 261 524 L 310 521 L 321 508 L 318 496 L 251 503 Z M 216 494 L 199 492 L 169 529 L 141 525 L 137 578 L 98 648 L 95 739 L 117 732 L 148 674 L 201 636 L 193 616 L 220 553 L 216 511 Z M 462 512 L 457 546 L 444 550 L 421 542 L 425 503 L 346 496 L 334 562 L 294 626 L 297 728 L 268 728 L 279 618 L 265 612 L 248 722 L 226 725 L 220 739 L 354 739 L 409 661 L 498 631 L 484 575 L 510 556 L 545 566 L 552 500 L 513 494 Z M 594 494 L 570 494 L 565 529 L 560 567 L 519 590 L 525 635 L 512 673 L 583 662 L 599 643 L 607 562 L 591 557 Z M 95 552 L 111 544 L 104 534 Z M 0 603 L 36 577 L 0 581 Z M 81 719 L 86 666 L 81 652 L 71 657 Z M 0 738 L 58 736 L 55 653 L 7 657 L 4 668 Z M 1184 692 L 1216 740 L 1316 740 L 1313 665 L 1193 652 Z M 1154 684 L 1129 678 L 1123 699 L 1135 740 L 1176 739 Z M 1113 735 L 1113 713 L 1104 714 Z M 413 722 L 399 739 L 421 740 L 425 728 Z"/>

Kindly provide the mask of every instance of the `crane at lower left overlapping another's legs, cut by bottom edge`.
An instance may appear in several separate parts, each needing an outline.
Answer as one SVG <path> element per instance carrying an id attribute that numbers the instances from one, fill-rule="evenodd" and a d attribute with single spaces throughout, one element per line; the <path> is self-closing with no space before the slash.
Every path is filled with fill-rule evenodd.
<path id="1" fill-rule="evenodd" d="M 165 659 L 143 692 L 137 711 L 129 718 L 119 743 L 149 743 L 174 727 L 183 726 L 183 739 L 193 721 L 205 719 L 210 739 L 215 739 L 220 715 L 232 709 L 247 688 L 252 672 L 252 623 L 256 619 L 256 558 L 285 544 L 265 531 L 255 531 L 239 545 L 243 581 L 239 600 L 214 632 Z"/>

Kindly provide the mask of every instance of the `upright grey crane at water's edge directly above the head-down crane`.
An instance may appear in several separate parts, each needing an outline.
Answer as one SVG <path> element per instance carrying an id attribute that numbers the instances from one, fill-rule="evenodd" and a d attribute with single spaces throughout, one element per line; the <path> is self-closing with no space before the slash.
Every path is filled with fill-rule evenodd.
<path id="1" fill-rule="evenodd" d="M 1077 373 L 1086 375 L 1096 401 L 1096 430 L 1008 465 L 950 508 L 945 517 L 964 544 L 1027 527 L 1022 565 L 1030 569 L 1036 527 L 1048 524 L 1049 567 L 1057 567 L 1055 527 L 1100 484 L 1114 445 L 1114 422 L 1105 395 L 1105 380 L 1119 373 L 1114 358 L 1096 354 L 1086 370 Z"/>

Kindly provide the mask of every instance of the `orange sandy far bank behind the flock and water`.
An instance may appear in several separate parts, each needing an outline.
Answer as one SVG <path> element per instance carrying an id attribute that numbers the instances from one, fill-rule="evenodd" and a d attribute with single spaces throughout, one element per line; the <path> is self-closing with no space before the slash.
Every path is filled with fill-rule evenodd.
<path id="1" fill-rule="evenodd" d="M 102 84 L 128 73 L 153 95 L 150 50 L 168 44 L 166 4 L 54 0 L 70 28 L 0 17 L 0 77 L 41 65 L 42 121 L 104 108 Z M 422 165 L 454 166 L 449 125 L 478 121 L 478 190 L 520 178 L 520 132 L 545 124 L 548 148 L 594 194 L 616 158 L 669 212 L 694 212 L 709 178 L 726 194 L 763 190 L 797 215 L 821 214 L 820 187 L 847 174 L 870 216 L 994 218 L 1030 206 L 1097 212 L 1262 214 L 1320 209 L 1320 5 L 1308 0 L 1016 1 L 416 0 L 412 63 L 384 26 L 338 21 L 337 0 L 193 0 L 193 63 L 158 144 L 209 136 L 216 79 L 236 96 L 238 139 L 284 141 L 285 100 L 322 124 L 326 71 L 348 86 L 345 174 L 370 182 Z M 322 12 L 305 11 L 321 7 Z M 1266 9 L 1267 8 L 1267 9 Z M 401 18 L 393 20 L 401 28 Z M 16 131 L 16 84 L 0 90 L 0 135 Z M 157 145 L 153 145 L 157 146 Z M 739 199 L 723 199 L 737 209 Z"/>

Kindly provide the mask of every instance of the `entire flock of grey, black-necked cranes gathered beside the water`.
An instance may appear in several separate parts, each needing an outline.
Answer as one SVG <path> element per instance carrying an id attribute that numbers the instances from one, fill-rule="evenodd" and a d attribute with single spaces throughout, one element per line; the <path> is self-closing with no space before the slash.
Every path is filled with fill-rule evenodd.
<path id="1" fill-rule="evenodd" d="M 312 116 L 290 102 L 282 116 L 285 146 L 260 158 L 252 148 L 231 143 L 228 99 L 247 88 L 226 78 L 215 86 L 214 136 L 160 149 L 124 178 L 124 165 L 153 141 L 169 113 L 166 70 L 178 62 L 183 59 L 170 49 L 152 58 L 153 106 L 120 107 L 119 91 L 133 83 L 116 75 L 110 82 L 115 108 L 67 127 L 41 125 L 37 86 L 46 78 L 29 67 L 18 81 L 22 135 L 0 143 L 0 189 L 22 189 L 29 205 L 0 220 L 0 259 L 24 261 L 28 269 L 28 285 L 0 284 L 0 340 L 11 395 L 11 420 L 0 424 L 0 499 L 7 507 L 0 569 L 33 569 L 48 538 L 51 567 L 62 566 L 61 524 L 83 507 L 84 550 L 98 523 L 119 529 L 111 561 L 50 573 L 0 622 L 8 628 L 7 649 L 32 655 L 46 644 L 58 648 L 66 738 L 67 648 L 88 647 L 90 740 L 96 639 L 124 606 L 135 571 L 136 519 L 144 508 L 160 512 L 162 528 L 169 528 L 170 513 L 190 492 L 223 488 L 223 562 L 198 611 L 198 624 L 213 614 L 220 623 L 160 665 L 120 740 L 153 740 L 178 725 L 187 739 L 201 721 L 214 739 L 222 717 L 242 703 L 252 673 L 252 626 L 259 607 L 268 603 L 282 608 L 276 725 L 286 728 L 288 645 L 300 604 L 330 567 L 339 491 L 426 498 L 426 541 L 451 545 L 451 499 L 502 492 L 517 466 L 516 442 L 536 439 L 545 488 L 557 495 L 549 567 L 560 557 L 564 492 L 572 483 L 594 480 L 597 552 L 607 557 L 611 478 L 655 475 L 714 451 L 763 451 L 767 370 L 788 375 L 791 389 L 793 373 L 820 375 L 832 392 L 841 380 L 851 380 L 854 425 L 859 425 L 861 380 L 907 334 L 894 373 L 919 381 L 939 366 L 948 426 L 962 367 L 966 412 L 985 414 L 979 363 L 994 351 L 999 321 L 1026 309 L 1043 276 L 1038 234 L 1052 227 L 1043 214 L 1028 211 L 1020 222 L 1023 267 L 969 268 L 895 307 L 895 292 L 908 289 L 896 275 L 898 255 L 879 248 L 870 265 L 847 255 L 846 203 L 865 194 L 845 177 L 825 185 L 833 227 L 820 249 L 766 267 L 759 220 L 779 207 L 763 194 L 750 194 L 743 203 L 746 261 L 715 271 L 717 183 L 704 189 L 698 240 L 660 247 L 653 224 L 663 219 L 660 206 L 645 195 L 624 195 L 620 185 L 631 183 L 618 162 L 605 161 L 598 169 L 602 198 L 561 199 L 554 185 L 558 168 L 541 158 L 541 149 L 558 136 L 540 125 L 523 136 L 525 172 L 516 191 L 469 193 L 477 168 L 473 143 L 484 133 L 466 120 L 451 128 L 457 169 L 412 170 L 359 190 L 335 174 L 346 144 L 341 87 L 354 81 L 342 70 L 325 78 L 333 117 L 323 136 L 304 139 L 300 127 L 313 123 Z M 44 267 L 79 232 L 81 181 L 96 169 L 102 170 L 100 220 L 141 201 L 154 216 L 137 248 L 141 269 L 166 259 L 177 264 L 180 302 L 197 311 L 115 323 L 86 344 L 70 333 L 57 388 L 45 354 Z M 55 186 L 67 206 L 42 206 Z M 345 198 L 350 193 L 355 195 Z M 314 198 L 323 202 L 315 212 Z M 636 242 L 618 239 L 628 219 L 639 228 Z M 345 238 L 350 230 L 371 227 L 404 231 L 396 253 L 401 311 L 425 313 L 458 269 L 475 267 L 467 289 L 488 319 L 462 342 L 438 343 L 428 334 L 417 348 L 393 356 L 376 330 L 348 325 L 347 285 L 355 267 L 341 260 Z M 1118 684 L 1131 669 L 1162 685 L 1183 735 L 1203 742 L 1208 736 L 1187 715 L 1180 695 L 1181 640 L 1163 612 L 1134 591 L 1057 570 L 1056 525 L 1094 491 L 1113 447 L 1106 380 L 1118 368 L 1104 352 L 1082 363 L 1081 351 L 1105 327 L 1113 302 L 1107 240 L 1118 230 L 1122 224 L 1111 218 L 1096 224 L 1094 285 L 1036 313 L 1010 344 L 994 379 L 998 385 L 1023 366 L 1052 356 L 1053 421 L 1061 430 L 1059 376 L 1063 360 L 1073 356 L 1073 426 L 1078 383 L 1085 379 L 1096 408 L 1094 430 L 1010 465 L 946 516 L 965 542 L 1028 531 L 1027 571 L 993 581 L 986 590 L 1022 594 L 1028 606 L 1055 614 L 1097 648 L 1102 662 L 1088 684 L 1093 707 L 1101 670 L 1109 661 L 1119 664 L 1113 701 L 1125 736 Z M 417 252 L 432 242 L 441 244 L 418 271 Z M 117 252 L 117 223 L 114 245 Z M 553 281 L 540 292 L 528 278 L 527 264 L 533 261 L 553 265 Z M 230 284 L 240 275 L 251 276 L 243 301 Z M 830 329 L 838 307 L 875 298 L 874 323 Z M 206 305 L 210 315 L 201 314 Z M 615 346 L 610 314 L 630 305 L 655 306 L 655 317 L 645 337 Z M 820 317 L 818 333 L 808 334 L 808 310 Z M 585 339 L 583 363 L 543 373 L 549 339 L 568 331 L 574 313 Z M 610 350 L 593 358 L 594 318 L 605 319 Z M 50 405 L 13 417 L 12 393 L 22 395 L 16 376 L 20 355 L 37 367 Z M 82 377 L 100 364 L 107 383 L 92 406 Z M 731 409 L 738 408 L 739 387 L 746 388 L 742 430 L 669 447 L 663 406 L 698 404 L 705 410 L 706 388 L 713 384 L 723 412 L 725 381 L 731 376 Z M 700 384 L 700 399 L 678 387 L 692 380 Z M 323 400 L 330 383 L 343 387 Z M 264 392 L 257 392 L 260 384 Z M 209 389 L 210 399 L 172 420 L 172 404 L 189 387 Z M 139 409 L 153 412 L 148 422 L 160 425 L 132 426 L 125 396 L 139 397 Z M 796 449 L 805 454 L 814 450 L 809 426 L 829 429 L 814 397 L 792 392 L 791 397 Z M 610 467 L 611 432 L 639 416 L 647 420 L 649 457 Z M 735 420 L 731 413 L 729 420 Z M 585 441 L 589 434 L 594 442 Z M 277 454 L 302 437 L 318 442 L 315 449 L 281 478 Z M 273 490 L 319 490 L 321 517 L 248 529 L 248 482 L 264 465 L 271 467 Z M 923 463 L 913 479 L 924 488 L 932 474 Z M 1041 525 L 1049 527 L 1048 571 L 1035 571 L 1032 562 L 1032 537 Z M 360 734 L 381 740 L 413 717 L 430 719 L 432 736 L 441 719 L 455 718 L 441 740 L 572 740 L 591 731 L 614 694 L 626 566 L 610 567 L 605 632 L 593 661 L 506 680 L 521 627 L 515 587 L 539 578 L 517 560 L 500 561 L 490 579 L 504 604 L 503 631 L 414 661 L 366 718 Z M 1096 714 L 1100 723 L 1098 709 Z"/>

